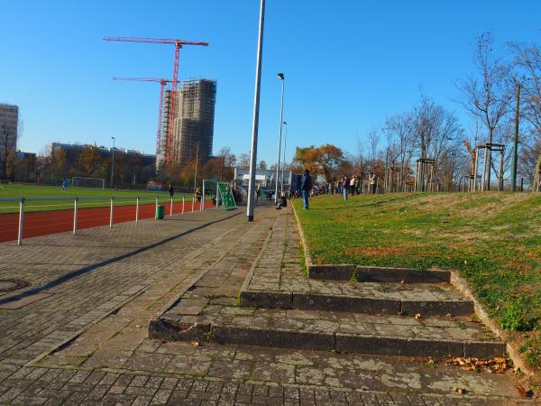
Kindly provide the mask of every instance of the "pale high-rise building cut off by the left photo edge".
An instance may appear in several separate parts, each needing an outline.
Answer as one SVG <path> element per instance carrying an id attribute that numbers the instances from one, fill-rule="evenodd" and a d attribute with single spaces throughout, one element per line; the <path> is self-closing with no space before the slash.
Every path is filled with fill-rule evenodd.
<path id="1" fill-rule="evenodd" d="M 0 178 L 7 176 L 17 151 L 19 107 L 0 104 Z"/>

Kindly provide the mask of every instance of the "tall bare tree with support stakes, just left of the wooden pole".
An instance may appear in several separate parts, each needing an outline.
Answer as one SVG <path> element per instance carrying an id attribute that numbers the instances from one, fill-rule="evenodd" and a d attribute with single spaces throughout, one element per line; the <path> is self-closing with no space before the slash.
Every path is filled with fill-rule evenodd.
<path id="1" fill-rule="evenodd" d="M 462 105 L 472 115 L 481 119 L 486 127 L 488 142 L 493 142 L 494 130 L 508 113 L 512 91 L 509 88 L 509 64 L 493 50 L 491 32 L 483 32 L 477 38 L 473 61 L 478 69 L 476 76 L 470 76 L 458 83 L 463 93 Z M 491 167 L 491 153 L 488 154 Z M 491 171 L 487 176 L 488 189 L 491 187 Z"/>

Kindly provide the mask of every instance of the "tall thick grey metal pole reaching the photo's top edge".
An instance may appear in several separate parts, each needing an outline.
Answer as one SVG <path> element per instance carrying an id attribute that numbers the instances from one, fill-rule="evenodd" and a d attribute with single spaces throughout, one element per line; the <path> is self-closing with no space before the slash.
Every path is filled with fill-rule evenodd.
<path id="1" fill-rule="evenodd" d="M 263 28 L 265 24 L 265 0 L 261 0 L 259 40 L 255 65 L 255 91 L 253 95 L 252 148 L 250 150 L 250 182 L 248 184 L 248 221 L 253 221 L 253 193 L 255 190 L 255 166 L 257 163 L 257 135 L 259 130 L 259 106 L 261 92 L 261 60 L 263 57 Z"/>

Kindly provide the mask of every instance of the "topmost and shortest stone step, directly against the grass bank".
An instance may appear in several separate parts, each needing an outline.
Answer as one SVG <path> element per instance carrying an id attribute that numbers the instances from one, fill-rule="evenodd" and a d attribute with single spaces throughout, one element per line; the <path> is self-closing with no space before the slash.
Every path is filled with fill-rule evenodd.
<path id="1" fill-rule="evenodd" d="M 310 265 L 308 277 L 328 281 L 438 283 L 451 281 L 451 272 L 381 266 Z"/>

